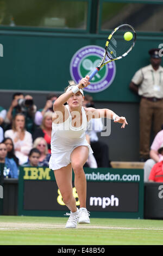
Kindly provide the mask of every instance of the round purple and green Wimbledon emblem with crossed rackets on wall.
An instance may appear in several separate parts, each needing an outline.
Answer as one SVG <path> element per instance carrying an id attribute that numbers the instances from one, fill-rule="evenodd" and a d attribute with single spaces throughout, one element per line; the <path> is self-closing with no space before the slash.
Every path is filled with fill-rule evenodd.
<path id="1" fill-rule="evenodd" d="M 96 68 L 103 57 L 104 48 L 89 45 L 80 48 L 72 57 L 70 63 L 70 74 L 72 79 L 78 83 L 82 77 L 90 75 Z M 106 57 L 107 59 L 108 57 Z M 115 62 L 106 64 L 95 77 L 92 78 L 91 84 L 84 88 L 86 92 L 97 93 L 105 90 L 110 86 L 116 74 Z"/>

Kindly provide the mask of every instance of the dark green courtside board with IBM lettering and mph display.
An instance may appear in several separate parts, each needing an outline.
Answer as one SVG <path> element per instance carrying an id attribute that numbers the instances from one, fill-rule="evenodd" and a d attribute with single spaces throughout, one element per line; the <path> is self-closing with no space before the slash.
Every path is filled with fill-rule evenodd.
<path id="1" fill-rule="evenodd" d="M 85 168 L 87 210 L 91 217 L 143 218 L 143 170 Z M 74 176 L 73 196 L 80 202 Z M 67 211 L 53 171 L 21 167 L 18 181 L 18 215 L 64 216 Z"/>

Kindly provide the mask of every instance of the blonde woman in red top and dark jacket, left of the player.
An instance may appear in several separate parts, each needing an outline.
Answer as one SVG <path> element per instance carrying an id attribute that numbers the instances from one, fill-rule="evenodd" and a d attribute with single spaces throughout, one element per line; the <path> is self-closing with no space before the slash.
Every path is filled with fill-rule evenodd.
<path id="1" fill-rule="evenodd" d="M 43 137 L 46 140 L 49 154 L 51 154 L 52 115 L 51 111 L 47 111 L 43 115 L 41 126 L 33 134 L 33 141 L 38 137 Z"/>

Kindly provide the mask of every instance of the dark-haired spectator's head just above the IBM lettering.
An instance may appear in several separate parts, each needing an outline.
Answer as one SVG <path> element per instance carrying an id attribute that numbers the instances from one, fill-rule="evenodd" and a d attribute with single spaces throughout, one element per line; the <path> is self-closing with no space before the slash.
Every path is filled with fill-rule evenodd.
<path id="1" fill-rule="evenodd" d="M 24 163 L 22 166 L 40 166 L 39 165 L 39 158 L 40 158 L 40 151 L 39 149 L 33 148 L 30 150 L 29 155 L 28 155 L 28 162 Z"/>

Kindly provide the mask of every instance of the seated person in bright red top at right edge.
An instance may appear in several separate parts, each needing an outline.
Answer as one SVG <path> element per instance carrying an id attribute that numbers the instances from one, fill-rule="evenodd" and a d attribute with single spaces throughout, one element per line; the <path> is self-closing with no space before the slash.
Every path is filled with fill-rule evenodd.
<path id="1" fill-rule="evenodd" d="M 149 174 L 148 181 L 151 182 L 163 182 L 163 143 L 161 144 L 158 154 L 161 155 L 158 163 L 155 163 Z"/>

